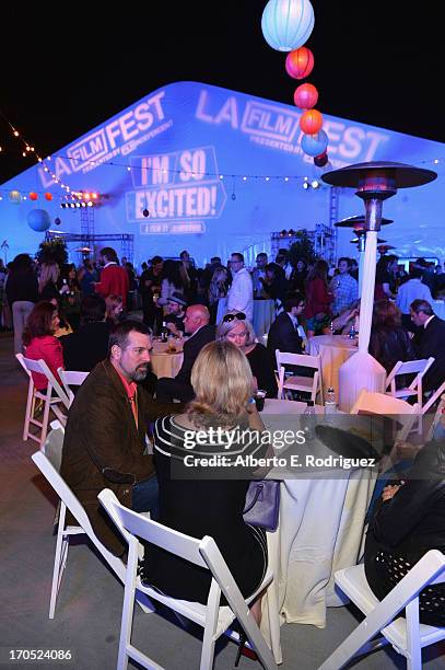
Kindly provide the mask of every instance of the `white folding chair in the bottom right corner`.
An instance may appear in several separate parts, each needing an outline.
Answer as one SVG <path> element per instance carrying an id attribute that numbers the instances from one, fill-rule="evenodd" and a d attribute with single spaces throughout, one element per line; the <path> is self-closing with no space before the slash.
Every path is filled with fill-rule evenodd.
<path id="1" fill-rule="evenodd" d="M 408 670 L 421 670 L 422 649 L 445 639 L 445 627 L 419 623 L 419 593 L 425 587 L 445 581 L 445 556 L 431 550 L 379 602 L 365 577 L 364 566 L 338 570 L 336 584 L 366 617 L 329 656 L 318 670 L 339 670 L 351 658 L 391 644 L 407 659 Z M 407 608 L 406 619 L 397 617 Z M 370 642 L 377 634 L 383 637 Z"/>

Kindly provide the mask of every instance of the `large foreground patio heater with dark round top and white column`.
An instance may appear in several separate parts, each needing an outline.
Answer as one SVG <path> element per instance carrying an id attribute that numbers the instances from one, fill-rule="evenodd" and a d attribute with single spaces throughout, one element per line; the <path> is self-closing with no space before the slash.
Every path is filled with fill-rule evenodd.
<path id="1" fill-rule="evenodd" d="M 432 170 L 405 163 L 375 161 L 356 163 L 327 172 L 321 180 L 331 186 L 356 188 L 365 206 L 365 252 L 363 261 L 362 299 L 360 305 L 359 350 L 339 370 L 339 405 L 349 412 L 362 389 L 385 391 L 386 372 L 368 354 L 374 304 L 377 233 L 382 226 L 383 203 L 398 188 L 429 184 L 437 174 Z"/>

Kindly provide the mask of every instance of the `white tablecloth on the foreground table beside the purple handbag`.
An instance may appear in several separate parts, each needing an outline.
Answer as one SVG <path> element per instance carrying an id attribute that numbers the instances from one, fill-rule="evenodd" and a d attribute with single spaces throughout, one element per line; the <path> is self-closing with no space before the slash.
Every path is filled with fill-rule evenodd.
<path id="1" fill-rule="evenodd" d="M 294 414 L 297 421 L 305 407 L 306 403 L 267 398 L 261 416 L 266 428 L 280 429 L 279 415 L 289 420 Z M 324 407 L 316 406 L 317 414 L 323 412 Z M 277 532 L 267 533 L 269 564 L 276 575 L 268 598 L 278 601 L 280 625 L 325 627 L 326 609 L 344 604 L 335 590 L 335 571 L 360 558 L 375 474 L 356 470 L 342 471 L 341 478 L 328 477 L 327 473 L 326 477 L 281 483 L 280 524 Z M 267 598 L 261 629 L 277 650 L 278 625 L 269 621 Z"/>

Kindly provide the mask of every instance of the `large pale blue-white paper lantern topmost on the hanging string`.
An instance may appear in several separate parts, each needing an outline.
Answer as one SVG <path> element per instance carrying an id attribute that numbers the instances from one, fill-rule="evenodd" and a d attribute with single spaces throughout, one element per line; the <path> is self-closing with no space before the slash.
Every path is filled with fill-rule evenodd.
<path id="1" fill-rule="evenodd" d="M 298 49 L 314 28 L 309 0 L 269 0 L 261 19 L 266 42 L 278 51 Z"/>

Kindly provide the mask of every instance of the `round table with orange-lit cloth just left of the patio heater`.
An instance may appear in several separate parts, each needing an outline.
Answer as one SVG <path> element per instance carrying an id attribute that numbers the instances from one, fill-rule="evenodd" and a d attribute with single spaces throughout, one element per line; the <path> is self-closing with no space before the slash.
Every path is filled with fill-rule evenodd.
<path id="1" fill-rule="evenodd" d="M 308 339 L 308 354 L 321 358 L 323 392 L 332 386 L 338 401 L 339 368 L 356 351 L 358 340 L 343 335 L 317 335 Z"/>

